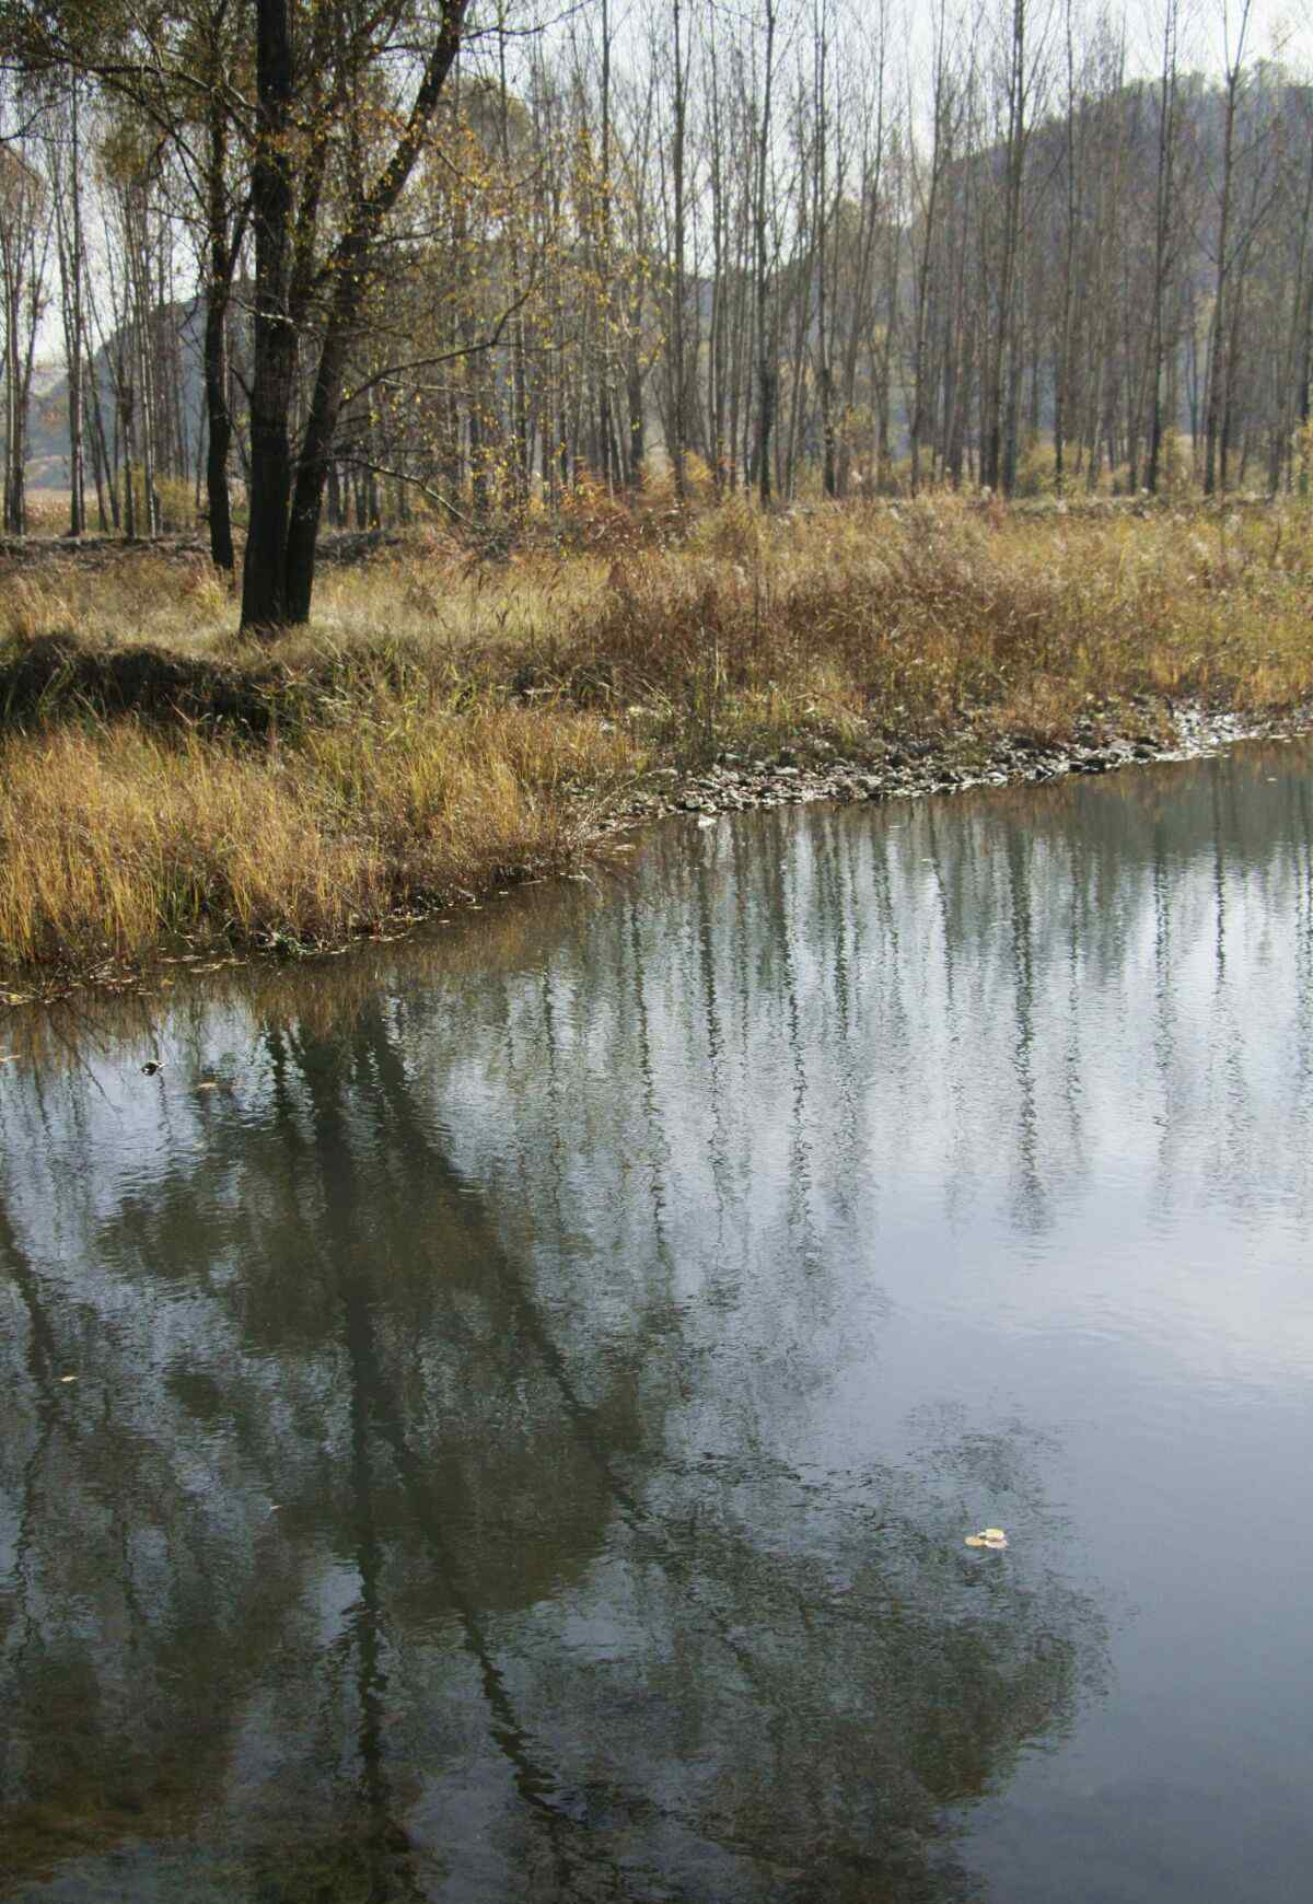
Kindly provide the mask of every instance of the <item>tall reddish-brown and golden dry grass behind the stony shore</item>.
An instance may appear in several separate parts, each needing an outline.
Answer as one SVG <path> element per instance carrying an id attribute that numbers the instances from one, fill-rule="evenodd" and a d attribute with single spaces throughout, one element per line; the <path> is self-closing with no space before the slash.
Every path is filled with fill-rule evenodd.
<path id="1" fill-rule="evenodd" d="M 715 733 L 963 722 L 1069 733 L 1088 697 L 1246 708 L 1313 689 L 1296 516 L 1043 518 L 953 501 L 712 518 L 617 564 L 573 668 Z"/>

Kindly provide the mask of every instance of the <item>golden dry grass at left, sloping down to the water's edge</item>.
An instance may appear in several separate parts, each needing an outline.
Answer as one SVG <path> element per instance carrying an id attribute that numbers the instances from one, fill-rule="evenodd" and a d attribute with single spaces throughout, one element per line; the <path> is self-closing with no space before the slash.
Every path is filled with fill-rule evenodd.
<path id="1" fill-rule="evenodd" d="M 590 716 L 375 710 L 295 748 L 162 737 L 139 722 L 6 744 L 0 946 L 93 967 L 173 935 L 333 942 L 527 866 L 588 830 L 571 796 L 630 764 Z"/>

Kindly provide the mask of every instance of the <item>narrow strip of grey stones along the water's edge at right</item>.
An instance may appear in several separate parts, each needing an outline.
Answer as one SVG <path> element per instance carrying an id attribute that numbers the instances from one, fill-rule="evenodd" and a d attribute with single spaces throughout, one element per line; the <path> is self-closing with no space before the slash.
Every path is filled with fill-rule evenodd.
<path id="1" fill-rule="evenodd" d="M 809 805 L 832 800 L 917 800 L 927 794 L 961 794 L 976 786 L 1009 786 L 1056 781 L 1066 775 L 1113 773 L 1155 762 L 1199 760 L 1239 741 L 1294 739 L 1313 731 L 1313 708 L 1256 720 L 1197 706 L 1155 706 L 1142 718 L 1092 714 L 1077 725 L 1071 743 L 1028 737 L 963 733 L 951 741 L 889 743 L 870 760 L 824 754 L 816 743 L 807 752 L 784 748 L 774 758 L 733 752 L 700 773 L 655 769 L 603 823 L 601 834 L 628 832 L 647 821 L 687 815 L 706 821 L 759 807 Z"/>

